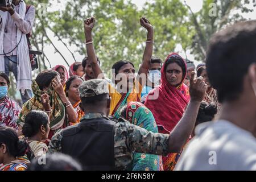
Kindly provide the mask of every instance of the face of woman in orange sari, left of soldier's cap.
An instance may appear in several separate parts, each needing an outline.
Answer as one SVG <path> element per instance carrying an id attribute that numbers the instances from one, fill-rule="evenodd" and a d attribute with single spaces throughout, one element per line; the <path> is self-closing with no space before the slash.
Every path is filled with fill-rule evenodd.
<path id="1" fill-rule="evenodd" d="M 82 80 L 80 78 L 75 78 L 72 80 L 71 85 L 69 86 L 69 89 L 67 90 L 68 98 L 72 101 L 80 101 L 79 97 L 79 86 L 82 84 Z"/>

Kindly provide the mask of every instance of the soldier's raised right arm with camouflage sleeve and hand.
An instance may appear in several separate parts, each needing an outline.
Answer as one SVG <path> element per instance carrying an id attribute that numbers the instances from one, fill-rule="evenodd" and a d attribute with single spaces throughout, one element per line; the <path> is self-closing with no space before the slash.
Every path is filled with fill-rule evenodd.
<path id="1" fill-rule="evenodd" d="M 130 123 L 118 122 L 117 126 L 119 129 L 116 131 L 119 132 L 119 136 L 121 137 L 117 139 L 119 140 L 126 138 L 126 143 L 129 143 L 127 147 L 129 150 L 135 152 L 156 155 L 167 155 L 168 153 L 180 152 L 184 144 L 187 142 L 189 135 L 192 133 L 200 103 L 203 100 L 207 90 L 207 85 L 204 81 L 202 81 L 202 78 L 197 78 L 194 82 L 194 75 L 195 72 L 193 72 L 191 79 L 191 102 L 188 104 L 183 118 L 181 118 L 180 122 L 177 124 L 170 135 L 152 133 L 151 131 L 147 131 Z M 123 132 L 123 130 L 126 130 L 127 132 Z M 122 142 L 116 143 L 117 144 L 115 146 L 118 147 L 118 144 Z"/>

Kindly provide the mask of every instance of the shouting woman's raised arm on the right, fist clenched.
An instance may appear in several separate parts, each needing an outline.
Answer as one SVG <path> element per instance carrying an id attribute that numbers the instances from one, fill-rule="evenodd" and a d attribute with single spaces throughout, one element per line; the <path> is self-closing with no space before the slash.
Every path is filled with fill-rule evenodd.
<path id="1" fill-rule="evenodd" d="M 146 47 L 143 54 L 143 62 L 141 67 L 139 68 L 137 78 L 139 78 L 139 75 L 141 75 L 142 73 L 144 73 L 147 76 L 148 69 L 150 67 L 150 60 L 152 57 L 153 44 L 154 44 L 154 30 L 149 20 L 147 18 L 141 18 L 140 21 L 141 21 L 141 26 L 146 28 L 147 30 L 147 40 L 146 40 Z M 142 86 L 145 84 L 145 82 L 142 82 L 142 80 L 140 80 L 139 83 Z"/>

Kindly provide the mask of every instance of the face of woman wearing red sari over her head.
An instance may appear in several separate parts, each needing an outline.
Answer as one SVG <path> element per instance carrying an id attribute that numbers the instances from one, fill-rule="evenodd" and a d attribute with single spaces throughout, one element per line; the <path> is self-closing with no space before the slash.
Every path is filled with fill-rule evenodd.
<path id="1" fill-rule="evenodd" d="M 171 86 L 177 86 L 181 83 L 183 72 L 177 63 L 170 63 L 166 67 L 166 79 Z"/>

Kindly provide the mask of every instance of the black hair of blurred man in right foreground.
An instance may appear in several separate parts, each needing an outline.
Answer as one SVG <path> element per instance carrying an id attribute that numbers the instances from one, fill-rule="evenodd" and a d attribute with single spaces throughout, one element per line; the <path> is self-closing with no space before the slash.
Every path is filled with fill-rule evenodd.
<path id="1" fill-rule="evenodd" d="M 236 23 L 210 39 L 207 73 L 218 93 L 218 101 L 236 100 L 242 92 L 243 78 L 256 62 L 256 20 Z"/>

